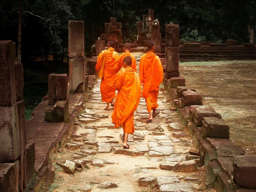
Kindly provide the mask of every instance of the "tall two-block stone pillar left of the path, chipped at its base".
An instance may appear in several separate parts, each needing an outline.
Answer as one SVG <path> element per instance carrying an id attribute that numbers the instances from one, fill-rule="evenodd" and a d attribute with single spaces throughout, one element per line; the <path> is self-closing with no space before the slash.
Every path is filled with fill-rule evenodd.
<path id="1" fill-rule="evenodd" d="M 68 22 L 68 52 L 70 86 L 69 92 L 82 93 L 84 92 L 85 79 L 83 21 Z"/>

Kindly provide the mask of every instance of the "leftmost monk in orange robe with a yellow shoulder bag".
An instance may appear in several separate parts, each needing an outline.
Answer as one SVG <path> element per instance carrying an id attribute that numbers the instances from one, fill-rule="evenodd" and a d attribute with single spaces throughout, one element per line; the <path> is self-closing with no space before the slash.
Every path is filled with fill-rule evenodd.
<path id="1" fill-rule="evenodd" d="M 115 64 L 119 59 L 119 55 L 115 52 L 115 42 L 109 41 L 108 50 L 101 51 L 96 65 L 98 77 L 101 79 L 100 93 L 103 102 L 107 103 L 104 109 L 110 111 L 109 103 L 114 106 L 115 98 Z"/>

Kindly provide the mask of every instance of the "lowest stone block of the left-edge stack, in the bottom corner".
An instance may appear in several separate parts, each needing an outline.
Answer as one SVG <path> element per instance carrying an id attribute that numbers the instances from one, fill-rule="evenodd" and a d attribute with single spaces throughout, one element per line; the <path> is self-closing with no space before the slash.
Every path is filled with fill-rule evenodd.
<path id="1" fill-rule="evenodd" d="M 19 162 L 0 163 L 0 191 L 19 191 Z"/>

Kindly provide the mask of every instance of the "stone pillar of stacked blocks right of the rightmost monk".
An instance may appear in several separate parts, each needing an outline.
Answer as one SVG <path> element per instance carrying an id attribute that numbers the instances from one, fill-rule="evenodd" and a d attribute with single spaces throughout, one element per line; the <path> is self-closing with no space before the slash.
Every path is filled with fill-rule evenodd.
<path id="1" fill-rule="evenodd" d="M 179 25 L 165 26 L 166 72 L 165 78 L 179 77 Z"/>

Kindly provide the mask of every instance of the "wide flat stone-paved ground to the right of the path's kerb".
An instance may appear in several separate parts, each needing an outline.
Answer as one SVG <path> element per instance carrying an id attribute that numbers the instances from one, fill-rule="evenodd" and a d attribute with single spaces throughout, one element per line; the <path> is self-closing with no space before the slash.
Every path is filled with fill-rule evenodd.
<path id="1" fill-rule="evenodd" d="M 180 63 L 180 76 L 230 126 L 230 138 L 256 153 L 256 63 L 218 61 Z M 249 143 L 245 143 L 249 142 Z"/>

